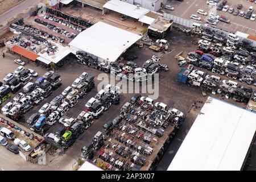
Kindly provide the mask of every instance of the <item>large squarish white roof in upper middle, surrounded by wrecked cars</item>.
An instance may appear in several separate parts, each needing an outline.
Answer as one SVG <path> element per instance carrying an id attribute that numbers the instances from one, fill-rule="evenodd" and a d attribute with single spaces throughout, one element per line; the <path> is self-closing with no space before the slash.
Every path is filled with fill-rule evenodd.
<path id="1" fill-rule="evenodd" d="M 112 62 L 139 39 L 137 34 L 98 22 L 77 35 L 69 46 Z"/>

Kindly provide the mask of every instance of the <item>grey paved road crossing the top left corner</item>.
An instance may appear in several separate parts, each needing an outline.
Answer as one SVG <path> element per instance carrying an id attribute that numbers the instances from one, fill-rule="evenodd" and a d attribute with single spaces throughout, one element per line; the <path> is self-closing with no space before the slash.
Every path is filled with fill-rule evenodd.
<path id="1" fill-rule="evenodd" d="M 21 11 L 27 9 L 34 3 L 38 3 L 40 0 L 25 0 L 18 5 L 14 6 L 10 10 L 6 11 L 5 13 L 1 14 L 0 16 L 0 24 L 6 22 L 9 18 L 15 16 L 16 14 L 20 13 Z"/>

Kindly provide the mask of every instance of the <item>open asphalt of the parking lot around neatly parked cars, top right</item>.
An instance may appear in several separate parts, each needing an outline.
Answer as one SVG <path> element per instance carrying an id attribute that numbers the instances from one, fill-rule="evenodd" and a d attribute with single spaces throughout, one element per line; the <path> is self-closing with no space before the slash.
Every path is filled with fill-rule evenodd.
<path id="1" fill-rule="evenodd" d="M 229 14 L 229 13 L 225 13 L 222 11 L 218 11 L 218 10 L 214 10 L 214 7 L 209 6 L 205 3 L 205 0 L 184 0 L 183 2 L 179 2 L 179 1 L 175 1 L 175 0 L 171 0 L 168 1 L 168 5 L 171 5 L 175 8 L 174 11 L 170 11 L 170 10 L 166 10 L 164 9 L 164 11 L 166 11 L 167 13 L 176 15 L 176 16 L 180 16 L 181 18 L 185 18 L 185 19 L 191 19 L 190 16 L 192 14 L 197 14 L 196 11 L 199 9 L 202 9 L 204 11 L 206 11 L 208 14 L 212 11 L 216 11 L 217 15 L 225 15 L 231 23 L 224 23 L 224 22 L 219 22 L 217 24 L 217 28 L 221 28 L 222 30 L 226 30 L 229 32 L 235 32 L 236 31 L 241 31 L 245 34 L 251 34 L 251 35 L 256 35 L 256 22 L 255 21 L 251 21 L 250 19 L 245 19 L 244 17 L 241 16 L 235 16 L 233 14 Z M 221 2 L 221 1 L 220 1 Z M 228 6 L 232 7 L 234 9 L 237 8 L 238 4 L 242 4 L 243 7 L 241 9 L 241 11 L 247 11 L 247 9 L 250 6 L 253 6 L 254 9 L 256 8 L 256 3 L 252 3 L 250 1 L 242 1 L 242 0 L 232 0 L 232 1 L 228 1 Z M 253 12 L 255 14 L 255 10 Z M 197 14 L 199 15 L 199 14 Z M 203 15 L 199 15 L 201 20 L 200 22 L 202 22 L 203 24 L 207 23 L 206 19 L 207 16 L 203 16 Z M 195 21 L 196 20 L 192 20 Z"/>

